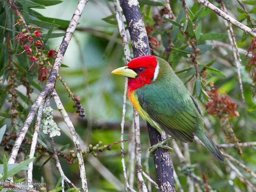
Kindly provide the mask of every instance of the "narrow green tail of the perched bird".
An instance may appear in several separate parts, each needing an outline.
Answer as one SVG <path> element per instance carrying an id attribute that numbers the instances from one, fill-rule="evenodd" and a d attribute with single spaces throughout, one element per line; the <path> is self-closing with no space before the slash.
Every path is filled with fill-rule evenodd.
<path id="1" fill-rule="evenodd" d="M 224 157 L 220 153 L 220 150 L 217 148 L 217 146 L 213 143 L 211 138 L 206 134 L 204 131 L 204 128 L 196 128 L 195 135 L 200 139 L 205 147 L 212 153 L 212 155 L 219 161 L 223 162 Z"/>

